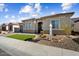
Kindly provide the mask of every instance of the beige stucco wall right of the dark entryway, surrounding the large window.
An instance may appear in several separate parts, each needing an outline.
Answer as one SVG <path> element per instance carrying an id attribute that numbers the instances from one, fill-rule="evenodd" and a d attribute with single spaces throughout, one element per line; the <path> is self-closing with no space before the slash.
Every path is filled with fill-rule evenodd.
<path id="1" fill-rule="evenodd" d="M 55 33 L 55 34 L 71 34 L 71 30 L 72 30 L 71 20 L 68 15 L 44 19 L 43 20 L 43 30 L 49 31 L 49 29 L 50 29 L 49 24 L 52 20 L 60 21 L 59 29 L 54 29 L 53 33 Z"/>

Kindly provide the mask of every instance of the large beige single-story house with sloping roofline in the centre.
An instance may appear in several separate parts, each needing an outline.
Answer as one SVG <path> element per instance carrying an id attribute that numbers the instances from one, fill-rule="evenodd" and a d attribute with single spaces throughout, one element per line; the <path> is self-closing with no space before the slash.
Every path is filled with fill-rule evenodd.
<path id="1" fill-rule="evenodd" d="M 40 33 L 44 31 L 45 33 L 49 33 L 49 25 L 51 24 L 53 34 L 71 34 L 72 20 L 70 17 L 73 14 L 74 12 L 60 13 L 38 19 L 23 20 L 23 32 Z"/>

